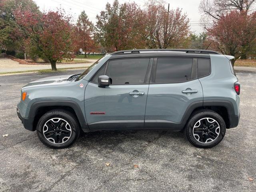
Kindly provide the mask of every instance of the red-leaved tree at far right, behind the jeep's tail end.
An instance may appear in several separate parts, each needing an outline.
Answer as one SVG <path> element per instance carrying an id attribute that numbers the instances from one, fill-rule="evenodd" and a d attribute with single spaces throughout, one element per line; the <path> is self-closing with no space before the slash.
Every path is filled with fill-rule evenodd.
<path id="1" fill-rule="evenodd" d="M 232 55 L 235 59 L 256 46 L 256 12 L 231 11 L 223 14 L 208 29 L 210 39 L 222 54 Z"/>

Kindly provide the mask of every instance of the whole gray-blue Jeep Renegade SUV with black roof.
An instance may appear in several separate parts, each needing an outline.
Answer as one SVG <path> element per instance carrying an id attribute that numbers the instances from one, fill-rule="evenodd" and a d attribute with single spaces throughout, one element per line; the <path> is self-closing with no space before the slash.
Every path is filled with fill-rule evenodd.
<path id="1" fill-rule="evenodd" d="M 125 50 L 82 74 L 36 80 L 21 90 L 17 114 L 48 147 L 65 148 L 81 131 L 184 131 L 210 148 L 240 118 L 240 84 L 226 56 L 209 50 Z"/>

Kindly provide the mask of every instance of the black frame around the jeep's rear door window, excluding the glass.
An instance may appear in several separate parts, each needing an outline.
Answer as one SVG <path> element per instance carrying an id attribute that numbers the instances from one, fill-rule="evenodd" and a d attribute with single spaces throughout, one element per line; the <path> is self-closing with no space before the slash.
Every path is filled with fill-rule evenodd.
<path id="1" fill-rule="evenodd" d="M 159 57 L 163 58 L 163 57 Z M 164 57 L 164 58 L 192 58 L 192 57 Z M 180 81 L 180 82 L 164 82 L 164 83 L 156 83 L 156 67 L 157 67 L 157 60 L 158 58 L 154 58 L 154 63 L 152 67 L 152 73 L 151 73 L 151 78 L 150 78 L 150 84 L 175 84 L 175 83 L 184 83 L 184 82 L 189 82 L 198 79 L 198 65 L 197 65 L 197 58 L 192 58 L 192 74 L 193 78 L 187 81 Z M 191 75 L 192 77 L 192 75 Z"/>

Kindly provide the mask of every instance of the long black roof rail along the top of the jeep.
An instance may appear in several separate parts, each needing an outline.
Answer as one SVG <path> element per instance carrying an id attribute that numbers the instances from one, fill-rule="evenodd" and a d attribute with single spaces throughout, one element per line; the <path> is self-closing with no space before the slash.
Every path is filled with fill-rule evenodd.
<path id="1" fill-rule="evenodd" d="M 196 54 L 220 54 L 216 51 L 211 50 L 199 50 L 199 49 L 133 49 L 133 50 L 123 50 L 123 51 L 116 51 L 111 53 L 110 55 L 122 55 L 122 54 L 138 54 L 143 52 L 186 52 L 186 53 L 196 53 Z"/>

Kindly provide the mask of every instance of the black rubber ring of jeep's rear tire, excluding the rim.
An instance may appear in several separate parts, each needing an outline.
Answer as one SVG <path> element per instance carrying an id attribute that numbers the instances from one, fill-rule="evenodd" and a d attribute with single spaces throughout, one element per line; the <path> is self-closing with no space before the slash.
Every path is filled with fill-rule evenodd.
<path id="1" fill-rule="evenodd" d="M 210 143 L 201 143 L 198 140 L 196 140 L 196 138 L 193 135 L 193 127 L 196 124 L 196 122 L 198 122 L 198 120 L 202 119 L 202 118 L 212 118 L 214 120 L 216 120 L 220 126 L 220 134 L 218 135 L 217 139 L 214 140 L 213 142 Z M 189 141 L 197 147 L 200 148 L 210 148 L 213 146 L 216 146 L 217 144 L 219 144 L 221 142 L 221 140 L 224 138 L 224 135 L 226 133 L 226 124 L 223 120 L 223 118 L 213 112 L 213 111 L 206 111 L 206 112 L 200 112 L 198 114 L 195 114 L 188 122 L 187 127 L 186 127 L 186 135 L 189 139 Z"/>

